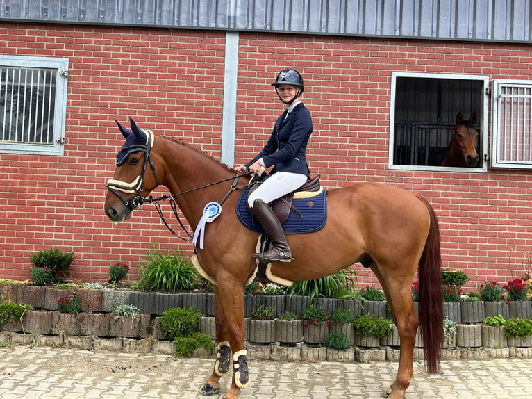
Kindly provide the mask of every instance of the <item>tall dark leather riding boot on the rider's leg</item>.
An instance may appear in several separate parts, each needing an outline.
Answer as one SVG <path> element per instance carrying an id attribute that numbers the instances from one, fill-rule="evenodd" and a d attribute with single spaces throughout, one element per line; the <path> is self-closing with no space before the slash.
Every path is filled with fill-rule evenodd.
<path id="1" fill-rule="evenodd" d="M 251 208 L 260 225 L 266 230 L 274 247 L 261 254 L 253 254 L 253 258 L 263 258 L 269 261 L 290 262 L 292 261 L 292 252 L 286 242 L 285 232 L 275 215 L 274 211 L 265 204 L 262 199 L 255 199 Z"/>

